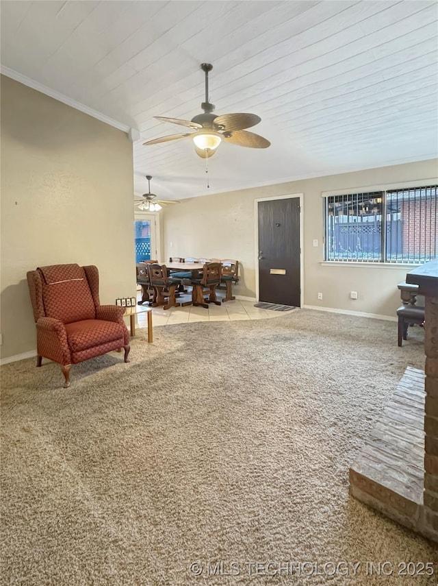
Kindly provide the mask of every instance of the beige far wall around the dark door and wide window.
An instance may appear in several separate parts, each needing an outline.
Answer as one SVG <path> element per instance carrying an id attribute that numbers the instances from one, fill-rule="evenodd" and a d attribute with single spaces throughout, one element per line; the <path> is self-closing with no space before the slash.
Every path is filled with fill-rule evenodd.
<path id="1" fill-rule="evenodd" d="M 426 160 L 184 199 L 163 212 L 164 258 L 237 258 L 242 275 L 235 292 L 256 297 L 254 200 L 303 193 L 304 304 L 394 317 L 400 305 L 397 283 L 413 267 L 322 265 L 321 192 L 428 178 L 435 181 L 437 175 L 437 160 Z M 313 247 L 313 239 L 318 239 L 318 247 Z M 318 301 L 318 291 L 323 294 L 322 301 Z M 350 299 L 350 291 L 357 291 L 357 300 Z"/>

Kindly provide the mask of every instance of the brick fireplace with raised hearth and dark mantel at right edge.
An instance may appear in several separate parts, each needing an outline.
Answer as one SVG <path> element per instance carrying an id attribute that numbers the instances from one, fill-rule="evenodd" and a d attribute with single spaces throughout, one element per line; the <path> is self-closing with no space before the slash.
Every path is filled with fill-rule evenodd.
<path id="1" fill-rule="evenodd" d="M 438 542 L 438 259 L 406 282 L 425 297 L 424 372 L 405 371 L 350 467 L 350 493 Z"/>

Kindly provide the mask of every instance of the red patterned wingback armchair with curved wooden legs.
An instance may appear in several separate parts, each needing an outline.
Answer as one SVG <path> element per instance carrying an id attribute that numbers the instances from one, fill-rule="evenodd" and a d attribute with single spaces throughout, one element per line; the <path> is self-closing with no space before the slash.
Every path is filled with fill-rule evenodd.
<path id="1" fill-rule="evenodd" d="M 60 363 L 68 387 L 72 364 L 121 347 L 128 362 L 125 308 L 100 304 L 97 267 L 38 267 L 27 273 L 27 283 L 36 321 L 37 366 L 43 356 Z"/>

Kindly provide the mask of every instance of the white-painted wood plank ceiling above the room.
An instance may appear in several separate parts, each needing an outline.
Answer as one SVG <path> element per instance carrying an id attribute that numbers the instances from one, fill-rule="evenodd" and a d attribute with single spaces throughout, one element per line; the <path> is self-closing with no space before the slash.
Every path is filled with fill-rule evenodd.
<path id="1" fill-rule="evenodd" d="M 138 130 L 160 199 L 433 158 L 437 144 L 435 1 L 1 2 L 2 72 Z M 268 149 L 230 144 L 209 162 L 186 132 L 154 116 L 201 113 L 204 74 L 216 114 L 252 112 Z"/>

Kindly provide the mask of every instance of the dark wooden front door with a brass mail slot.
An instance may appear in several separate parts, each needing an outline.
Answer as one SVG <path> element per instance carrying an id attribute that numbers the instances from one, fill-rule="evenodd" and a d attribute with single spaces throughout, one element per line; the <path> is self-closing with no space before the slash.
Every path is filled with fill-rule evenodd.
<path id="1" fill-rule="evenodd" d="M 300 198 L 258 203 L 259 300 L 300 307 Z"/>

